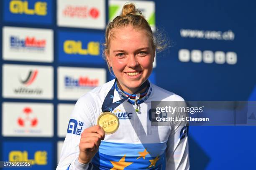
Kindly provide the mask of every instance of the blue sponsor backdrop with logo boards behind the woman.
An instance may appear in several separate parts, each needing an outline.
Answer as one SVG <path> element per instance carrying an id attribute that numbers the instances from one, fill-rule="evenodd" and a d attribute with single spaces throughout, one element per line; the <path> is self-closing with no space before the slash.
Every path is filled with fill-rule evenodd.
<path id="1" fill-rule="evenodd" d="M 104 28 L 125 2 L 0 2 L 0 161 L 56 168 L 76 100 L 113 79 L 102 58 Z M 256 100 L 256 2 L 134 2 L 170 39 L 157 54 L 152 82 L 186 100 Z M 191 169 L 254 169 L 255 130 L 191 126 Z"/>

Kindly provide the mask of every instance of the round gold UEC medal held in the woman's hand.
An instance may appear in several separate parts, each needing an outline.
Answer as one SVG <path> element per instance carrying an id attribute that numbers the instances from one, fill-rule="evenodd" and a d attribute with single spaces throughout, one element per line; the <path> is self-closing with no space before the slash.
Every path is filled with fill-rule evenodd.
<path id="1" fill-rule="evenodd" d="M 111 112 L 103 112 L 99 116 L 97 124 L 105 131 L 105 134 L 112 134 L 118 130 L 119 119 Z"/>

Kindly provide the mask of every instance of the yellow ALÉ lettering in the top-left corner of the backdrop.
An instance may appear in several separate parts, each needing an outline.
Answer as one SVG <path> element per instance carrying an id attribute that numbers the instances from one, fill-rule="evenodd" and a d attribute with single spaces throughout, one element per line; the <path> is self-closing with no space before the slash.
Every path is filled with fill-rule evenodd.
<path id="1" fill-rule="evenodd" d="M 12 0 L 10 1 L 10 12 L 14 14 L 47 15 L 47 3 L 38 1 L 34 4 L 34 9 L 29 9 L 28 1 Z"/>

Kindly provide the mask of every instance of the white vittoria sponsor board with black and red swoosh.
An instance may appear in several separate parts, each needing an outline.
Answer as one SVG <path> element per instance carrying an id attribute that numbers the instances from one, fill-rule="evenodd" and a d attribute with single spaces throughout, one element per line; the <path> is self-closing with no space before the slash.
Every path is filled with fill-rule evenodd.
<path id="1" fill-rule="evenodd" d="M 53 99 L 53 67 L 3 65 L 3 97 Z"/>

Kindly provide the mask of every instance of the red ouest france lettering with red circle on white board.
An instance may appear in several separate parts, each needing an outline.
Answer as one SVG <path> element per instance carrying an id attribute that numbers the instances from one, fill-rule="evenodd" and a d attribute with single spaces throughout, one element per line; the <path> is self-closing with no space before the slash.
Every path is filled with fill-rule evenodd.
<path id="1" fill-rule="evenodd" d="M 97 19 L 100 11 L 96 7 L 67 5 L 62 11 L 65 17 Z"/>

